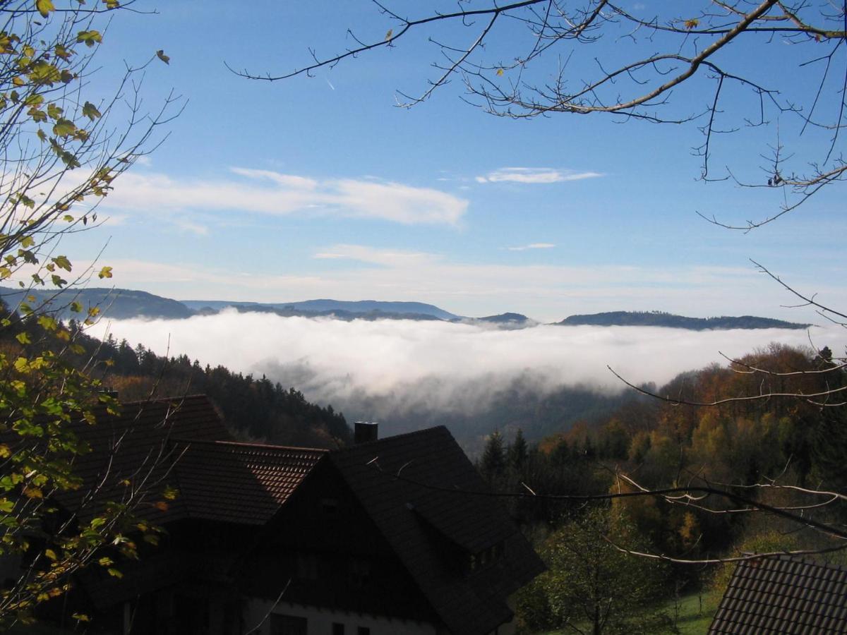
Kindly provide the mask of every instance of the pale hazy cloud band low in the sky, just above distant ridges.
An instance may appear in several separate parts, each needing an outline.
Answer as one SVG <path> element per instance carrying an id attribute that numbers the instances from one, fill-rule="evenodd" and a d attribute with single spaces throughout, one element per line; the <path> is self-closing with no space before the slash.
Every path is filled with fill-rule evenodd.
<path id="1" fill-rule="evenodd" d="M 815 321 L 814 314 L 780 309 L 784 290 L 762 285 L 761 274 L 752 267 L 495 264 L 363 245 L 316 251 L 312 266 L 306 259 L 296 270 L 279 272 L 253 271 L 248 263 L 210 267 L 201 262 L 124 261 L 108 253 L 106 258 L 116 286 L 177 299 L 425 301 L 459 315 L 517 311 L 545 322 L 573 313 L 656 309 L 699 317 L 747 314 Z M 322 261 L 324 266 L 318 267 Z M 329 262 L 334 265 L 325 266 Z M 844 290 L 816 290 L 833 304 L 847 304 Z"/>

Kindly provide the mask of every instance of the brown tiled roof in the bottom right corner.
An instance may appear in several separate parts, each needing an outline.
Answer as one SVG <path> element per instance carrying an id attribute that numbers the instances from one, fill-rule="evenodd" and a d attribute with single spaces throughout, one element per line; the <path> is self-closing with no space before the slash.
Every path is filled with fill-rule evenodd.
<path id="1" fill-rule="evenodd" d="M 742 561 L 709 632 L 847 632 L 847 569 L 788 556 Z"/>

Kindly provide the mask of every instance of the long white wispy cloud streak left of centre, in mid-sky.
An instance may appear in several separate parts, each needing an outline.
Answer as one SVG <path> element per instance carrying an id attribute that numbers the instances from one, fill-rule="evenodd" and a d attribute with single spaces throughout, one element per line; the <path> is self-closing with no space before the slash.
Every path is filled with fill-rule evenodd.
<path id="1" fill-rule="evenodd" d="M 104 207 L 159 213 L 220 210 L 372 218 L 400 224 L 456 225 L 468 201 L 445 191 L 371 179 L 311 179 L 271 170 L 231 168 L 240 179 L 172 179 L 125 174 Z"/>

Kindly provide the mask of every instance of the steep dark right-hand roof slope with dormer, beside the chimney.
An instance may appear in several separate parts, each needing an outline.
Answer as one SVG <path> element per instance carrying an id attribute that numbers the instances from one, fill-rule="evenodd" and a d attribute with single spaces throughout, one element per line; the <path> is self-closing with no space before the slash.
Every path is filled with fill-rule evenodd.
<path id="1" fill-rule="evenodd" d="M 447 428 L 329 457 L 450 632 L 488 633 L 511 619 L 507 596 L 544 566 L 499 501 L 484 495 L 484 482 Z M 496 545 L 504 548 L 501 560 L 462 570 L 462 555 Z"/>

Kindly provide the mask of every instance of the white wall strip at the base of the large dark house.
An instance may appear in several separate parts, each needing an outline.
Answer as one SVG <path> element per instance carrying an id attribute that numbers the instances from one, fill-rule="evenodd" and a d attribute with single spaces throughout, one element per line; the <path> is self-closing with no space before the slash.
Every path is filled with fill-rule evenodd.
<path id="1" fill-rule="evenodd" d="M 249 599 L 246 602 L 244 609 L 246 632 L 252 635 L 269 635 L 269 618 L 257 631 L 249 629 L 256 627 L 270 611 L 280 615 L 305 617 L 308 620 L 308 635 L 332 635 L 333 623 L 344 624 L 345 635 L 357 635 L 357 627 L 370 628 L 370 635 L 436 635 L 435 626 L 423 621 L 397 620 L 286 602 L 280 602 L 276 606 L 273 604 L 263 599 Z"/>

